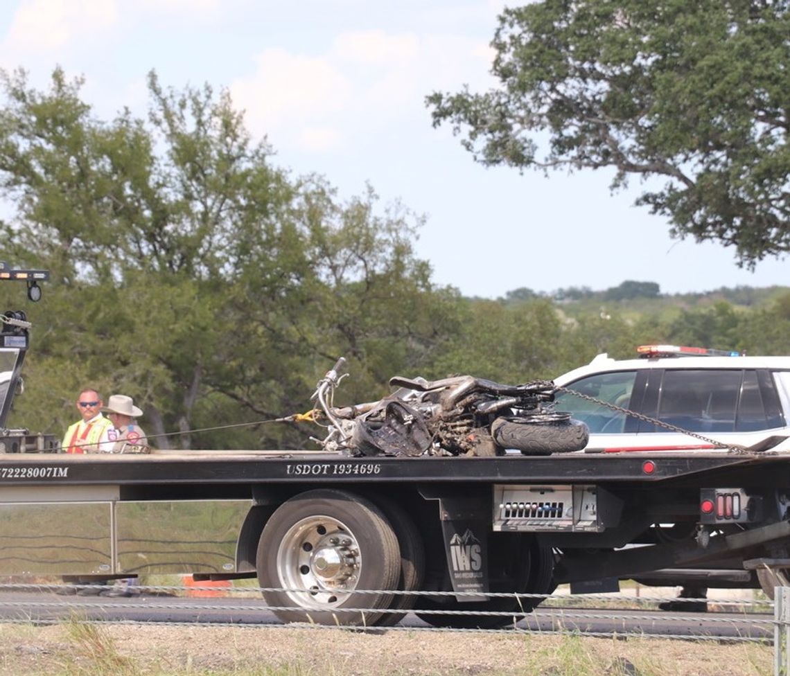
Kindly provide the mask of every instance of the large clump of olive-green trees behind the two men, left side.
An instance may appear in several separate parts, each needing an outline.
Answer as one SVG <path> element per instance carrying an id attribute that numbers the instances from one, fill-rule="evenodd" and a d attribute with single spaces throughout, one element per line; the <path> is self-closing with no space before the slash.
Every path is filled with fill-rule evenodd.
<path id="1" fill-rule="evenodd" d="M 310 407 L 340 355 L 344 392 L 381 396 L 457 331 L 457 292 L 412 251 L 421 220 L 274 167 L 227 92 L 151 73 L 149 118 L 106 122 L 61 69 L 43 92 L 0 82 L 0 260 L 52 272 L 24 426 L 62 432 L 90 384 L 134 396 L 160 447 L 299 447 L 314 430 L 241 425 Z"/>

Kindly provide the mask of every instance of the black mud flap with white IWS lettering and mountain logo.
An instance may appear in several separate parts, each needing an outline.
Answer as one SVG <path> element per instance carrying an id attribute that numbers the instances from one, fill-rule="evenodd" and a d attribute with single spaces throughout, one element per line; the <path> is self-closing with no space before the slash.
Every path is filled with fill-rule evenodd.
<path id="1" fill-rule="evenodd" d="M 458 601 L 486 601 L 491 501 L 475 497 L 439 498 L 447 569 Z M 470 595 L 471 592 L 471 595 Z"/>

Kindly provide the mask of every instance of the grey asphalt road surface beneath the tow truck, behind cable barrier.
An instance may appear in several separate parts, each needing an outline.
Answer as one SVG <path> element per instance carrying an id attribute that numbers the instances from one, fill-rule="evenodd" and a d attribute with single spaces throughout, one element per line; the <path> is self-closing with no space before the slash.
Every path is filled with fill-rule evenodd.
<path id="1" fill-rule="evenodd" d="M 33 624 L 62 621 L 73 616 L 96 622 L 167 622 L 179 624 L 281 625 L 262 599 L 193 598 L 142 594 L 131 598 L 56 595 L 52 591 L 0 592 L 0 622 Z M 401 627 L 427 629 L 408 614 Z M 654 610 L 606 608 L 542 608 L 529 614 L 518 629 L 585 634 L 687 638 L 773 638 L 773 616 L 727 612 L 667 613 Z"/>

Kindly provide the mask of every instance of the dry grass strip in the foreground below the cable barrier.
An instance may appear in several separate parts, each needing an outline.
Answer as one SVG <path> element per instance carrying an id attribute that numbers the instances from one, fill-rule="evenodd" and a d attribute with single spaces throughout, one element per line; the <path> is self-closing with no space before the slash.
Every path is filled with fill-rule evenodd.
<path id="1" fill-rule="evenodd" d="M 0 625 L 0 676 L 768 676 L 772 648 L 574 635 Z"/>

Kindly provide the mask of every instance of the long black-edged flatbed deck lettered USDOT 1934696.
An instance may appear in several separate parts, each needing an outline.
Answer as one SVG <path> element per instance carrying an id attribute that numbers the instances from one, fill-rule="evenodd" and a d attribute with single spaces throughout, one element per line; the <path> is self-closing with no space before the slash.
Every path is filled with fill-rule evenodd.
<path id="1" fill-rule="evenodd" d="M 348 457 L 310 451 L 168 451 L 149 455 L 0 454 L 0 486 L 250 483 L 654 483 L 715 477 L 787 485 L 786 453 L 569 453 L 498 457 Z M 773 482 L 772 482 L 773 483 Z M 697 483 L 696 485 L 700 485 Z M 2 489 L 0 489 L 2 490 Z"/>

